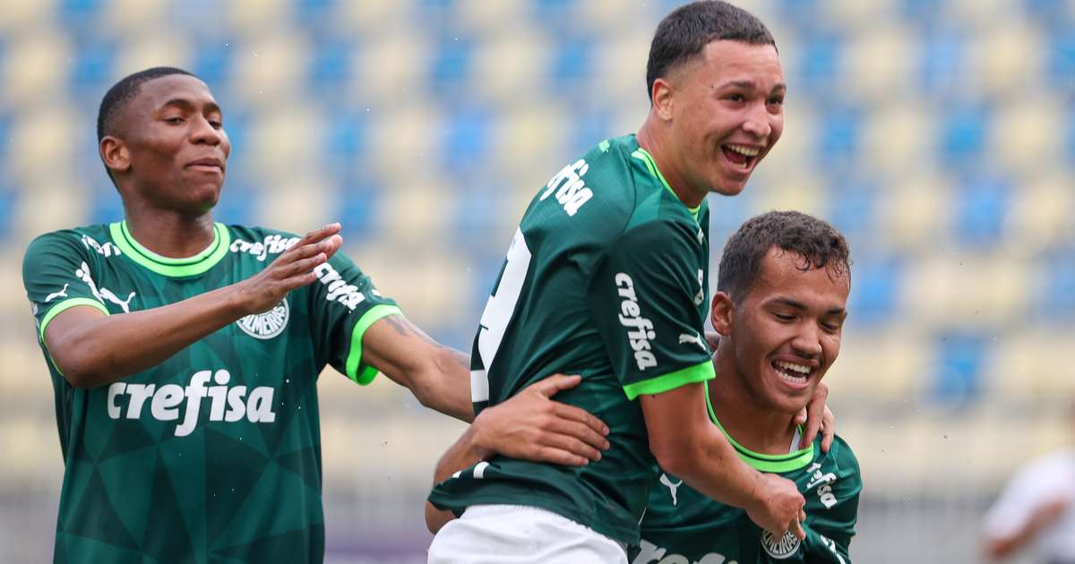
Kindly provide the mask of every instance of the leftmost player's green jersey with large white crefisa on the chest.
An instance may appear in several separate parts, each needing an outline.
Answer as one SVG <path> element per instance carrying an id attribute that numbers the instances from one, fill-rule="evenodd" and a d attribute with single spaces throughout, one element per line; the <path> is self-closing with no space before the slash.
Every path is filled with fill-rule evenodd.
<path id="1" fill-rule="evenodd" d="M 369 382 L 362 335 L 399 314 L 350 260 L 338 254 L 271 310 L 108 386 L 71 387 L 43 337 L 70 307 L 115 315 L 175 303 L 248 278 L 296 242 L 216 223 L 205 251 L 170 259 L 118 222 L 30 244 L 23 279 L 64 461 L 55 562 L 321 562 L 317 375 L 331 364 Z"/>

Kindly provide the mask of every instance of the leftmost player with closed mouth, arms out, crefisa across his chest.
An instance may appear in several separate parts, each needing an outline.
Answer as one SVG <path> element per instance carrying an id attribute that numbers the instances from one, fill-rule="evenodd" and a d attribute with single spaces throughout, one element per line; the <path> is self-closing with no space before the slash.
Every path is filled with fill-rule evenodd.
<path id="1" fill-rule="evenodd" d="M 64 460 L 55 562 L 321 562 L 318 374 L 379 371 L 470 420 L 469 358 L 336 252 L 339 225 L 299 237 L 213 221 L 230 144 L 191 74 L 120 79 L 98 138 L 126 219 L 42 235 L 23 266 Z M 576 407 L 502 407 L 488 438 L 534 442 L 498 450 L 604 444 Z"/>

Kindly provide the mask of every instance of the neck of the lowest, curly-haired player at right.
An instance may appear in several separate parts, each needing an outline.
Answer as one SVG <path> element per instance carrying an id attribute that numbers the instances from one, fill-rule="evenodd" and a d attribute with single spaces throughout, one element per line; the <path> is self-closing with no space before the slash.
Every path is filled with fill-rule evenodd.
<path id="1" fill-rule="evenodd" d="M 718 347 L 717 377 L 710 402 L 725 431 L 740 445 L 761 454 L 787 454 L 794 439 L 793 415 L 761 404 L 746 388 L 730 350 Z"/>

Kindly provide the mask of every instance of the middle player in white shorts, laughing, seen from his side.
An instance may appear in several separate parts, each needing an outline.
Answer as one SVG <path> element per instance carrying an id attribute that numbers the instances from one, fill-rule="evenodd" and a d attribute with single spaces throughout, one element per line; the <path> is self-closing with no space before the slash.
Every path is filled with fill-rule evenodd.
<path id="1" fill-rule="evenodd" d="M 773 38 L 726 2 L 688 4 L 658 26 L 647 85 L 637 135 L 601 142 L 539 189 L 472 356 L 475 410 L 548 374 L 580 374 L 558 397 L 605 421 L 612 448 L 570 467 L 493 457 L 439 483 L 431 504 L 461 517 L 440 529 L 430 562 L 626 562 L 655 458 L 763 529 L 803 534 L 796 485 L 739 459 L 703 386 L 714 376 L 705 197 L 739 193 L 780 136 Z"/>

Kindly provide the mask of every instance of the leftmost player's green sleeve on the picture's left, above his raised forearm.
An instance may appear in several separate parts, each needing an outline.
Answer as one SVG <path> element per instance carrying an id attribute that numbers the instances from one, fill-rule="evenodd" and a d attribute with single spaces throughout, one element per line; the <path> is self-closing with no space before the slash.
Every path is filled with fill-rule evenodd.
<path id="1" fill-rule="evenodd" d="M 98 264 L 97 252 L 115 252 L 111 246 L 101 247 L 96 241 L 75 231 L 56 231 L 39 236 L 30 243 L 23 259 L 23 284 L 30 308 L 38 324 L 38 337 L 44 344 L 45 329 L 60 313 L 84 305 L 100 309 L 105 315 L 105 300 L 124 304 L 115 295 L 102 295 L 106 289 L 98 288 L 94 271 Z"/>

